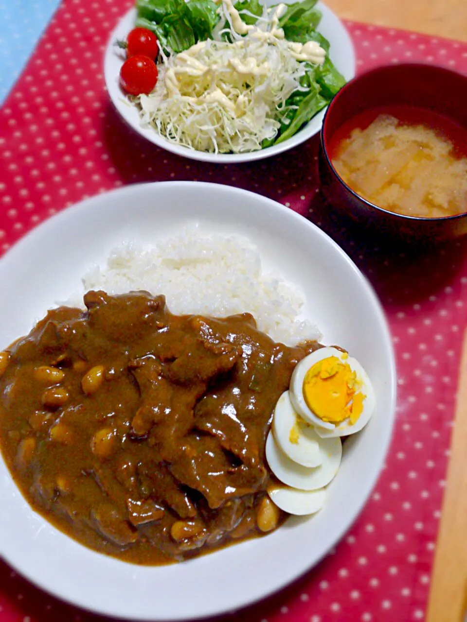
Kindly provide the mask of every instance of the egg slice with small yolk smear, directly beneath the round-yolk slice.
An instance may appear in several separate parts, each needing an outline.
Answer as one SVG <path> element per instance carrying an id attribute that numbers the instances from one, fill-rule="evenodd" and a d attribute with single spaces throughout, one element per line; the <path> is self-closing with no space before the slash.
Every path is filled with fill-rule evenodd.
<path id="1" fill-rule="evenodd" d="M 302 466 L 321 464 L 320 438 L 311 424 L 296 413 L 289 391 L 283 392 L 277 401 L 272 430 L 274 440 L 291 460 Z"/>

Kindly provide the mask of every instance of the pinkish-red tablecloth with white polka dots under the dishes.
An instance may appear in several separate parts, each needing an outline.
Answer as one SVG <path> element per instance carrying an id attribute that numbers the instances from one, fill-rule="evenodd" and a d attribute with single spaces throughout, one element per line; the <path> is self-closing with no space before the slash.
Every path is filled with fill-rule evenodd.
<path id="1" fill-rule="evenodd" d="M 351 235 L 334 223 L 319 190 L 318 137 L 280 157 L 225 167 L 146 144 L 116 116 L 102 75 L 108 34 L 129 6 L 128 0 L 62 2 L 1 109 L 0 249 L 82 198 L 154 180 L 253 190 L 328 231 L 367 274 L 387 313 L 399 376 L 394 439 L 377 487 L 336 549 L 298 582 L 225 619 L 423 620 L 466 325 L 466 243 L 415 252 Z M 347 27 L 359 70 L 422 60 L 467 72 L 465 44 Z M 55 600 L 0 562 L 0 622 L 78 620 L 101 618 Z"/>

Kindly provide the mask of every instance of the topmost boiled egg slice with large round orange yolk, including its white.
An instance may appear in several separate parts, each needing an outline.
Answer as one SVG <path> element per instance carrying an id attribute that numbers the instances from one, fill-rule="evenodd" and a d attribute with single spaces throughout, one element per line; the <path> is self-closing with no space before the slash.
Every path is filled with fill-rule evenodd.
<path id="1" fill-rule="evenodd" d="M 298 363 L 290 400 L 321 437 L 359 432 L 375 409 L 372 384 L 361 364 L 337 348 L 319 348 Z"/>

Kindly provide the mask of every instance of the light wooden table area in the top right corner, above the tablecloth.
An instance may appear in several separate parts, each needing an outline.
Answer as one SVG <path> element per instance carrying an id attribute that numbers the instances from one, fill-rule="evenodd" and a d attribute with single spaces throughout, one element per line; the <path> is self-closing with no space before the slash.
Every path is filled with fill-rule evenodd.
<path id="1" fill-rule="evenodd" d="M 467 41 L 467 0 L 326 0 L 344 19 Z"/>

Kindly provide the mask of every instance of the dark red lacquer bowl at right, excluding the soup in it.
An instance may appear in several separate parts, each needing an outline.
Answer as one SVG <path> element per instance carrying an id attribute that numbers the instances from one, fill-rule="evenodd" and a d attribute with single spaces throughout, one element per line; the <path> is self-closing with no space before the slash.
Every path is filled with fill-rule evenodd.
<path id="1" fill-rule="evenodd" d="M 437 242 L 467 233 L 467 204 L 465 213 L 443 218 L 396 214 L 357 195 L 339 177 L 329 156 L 334 132 L 365 109 L 414 106 L 442 114 L 467 129 L 466 101 L 467 77 L 433 65 L 378 67 L 347 83 L 329 105 L 321 129 L 319 174 L 329 208 L 339 218 L 368 227 L 372 233 L 377 231 L 405 240 Z"/>

